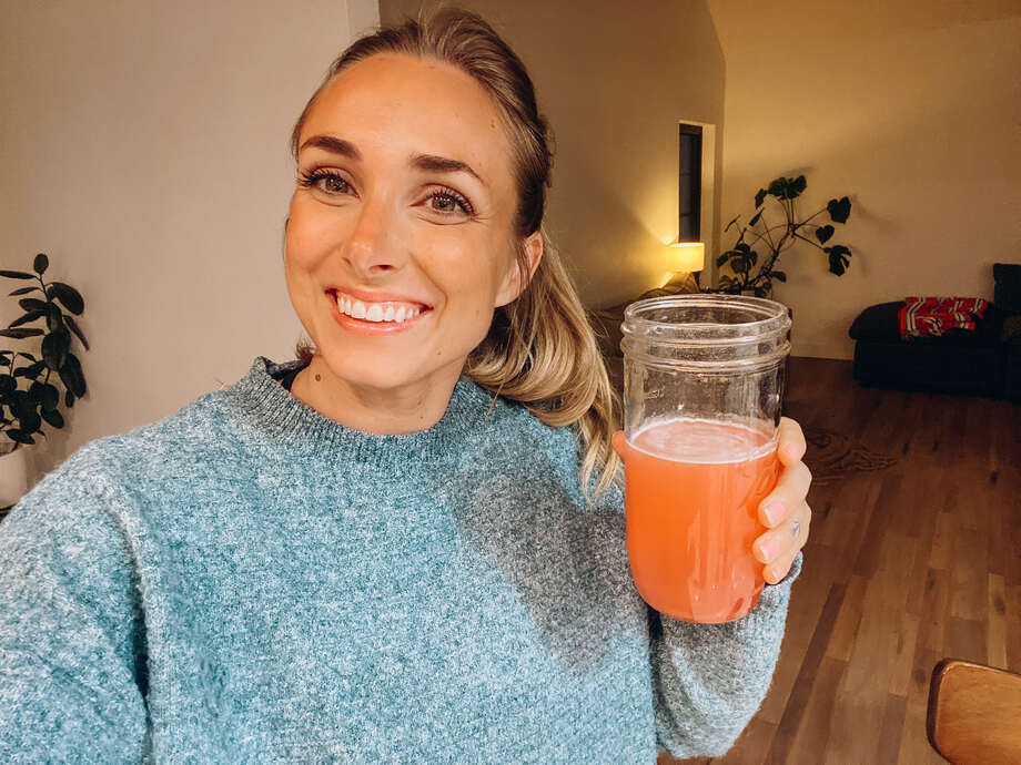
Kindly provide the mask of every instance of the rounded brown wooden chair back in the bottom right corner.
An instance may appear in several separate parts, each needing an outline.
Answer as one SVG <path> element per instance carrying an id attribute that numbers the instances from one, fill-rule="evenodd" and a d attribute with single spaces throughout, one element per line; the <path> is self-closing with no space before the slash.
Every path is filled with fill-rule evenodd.
<path id="1" fill-rule="evenodd" d="M 956 765 L 1021 763 L 1021 674 L 943 659 L 929 681 L 927 732 Z"/>

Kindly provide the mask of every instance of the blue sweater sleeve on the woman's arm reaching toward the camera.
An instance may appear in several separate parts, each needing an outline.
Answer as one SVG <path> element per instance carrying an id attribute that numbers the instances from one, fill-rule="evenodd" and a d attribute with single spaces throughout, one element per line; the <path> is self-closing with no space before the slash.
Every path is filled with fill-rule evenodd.
<path id="1" fill-rule="evenodd" d="M 0 523 L 0 762 L 146 759 L 138 583 L 90 467 L 72 456 Z"/>

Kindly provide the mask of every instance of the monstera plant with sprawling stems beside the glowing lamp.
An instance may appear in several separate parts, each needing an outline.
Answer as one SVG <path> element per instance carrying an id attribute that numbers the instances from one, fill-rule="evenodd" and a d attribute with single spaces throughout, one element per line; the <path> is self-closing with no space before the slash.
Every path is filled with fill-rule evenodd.
<path id="1" fill-rule="evenodd" d="M 822 210 L 800 220 L 798 197 L 806 185 L 803 175 L 796 178 L 780 176 L 768 187 L 759 188 L 751 220 L 739 226 L 738 215 L 724 228 L 726 232 L 731 226 L 738 227 L 737 242 L 716 261 L 718 267 L 727 266 L 729 273 L 720 274 L 719 286 L 707 292 L 769 297 L 774 280 L 787 282 L 787 274 L 777 268 L 780 254 L 798 241 L 820 249 L 829 262 L 830 273 L 843 275 L 850 265 L 851 251 L 846 245 L 830 243 L 836 232 L 831 223 L 847 222 L 851 202 L 846 196 L 832 198 Z M 782 211 L 785 220 L 781 223 L 767 220 L 766 203 L 769 200 L 774 201 L 771 207 Z M 815 222 L 822 213 L 829 214 L 829 223 L 825 225 Z"/>

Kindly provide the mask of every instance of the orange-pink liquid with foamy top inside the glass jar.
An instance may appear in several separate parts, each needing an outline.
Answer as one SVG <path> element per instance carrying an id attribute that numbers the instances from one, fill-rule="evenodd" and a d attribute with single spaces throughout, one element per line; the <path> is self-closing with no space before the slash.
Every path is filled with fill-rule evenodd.
<path id="1" fill-rule="evenodd" d="M 688 622 L 729 622 L 758 602 L 766 580 L 751 543 L 766 531 L 758 504 L 776 486 L 776 445 L 726 422 L 674 419 L 626 441 L 627 552 L 639 594 Z"/>

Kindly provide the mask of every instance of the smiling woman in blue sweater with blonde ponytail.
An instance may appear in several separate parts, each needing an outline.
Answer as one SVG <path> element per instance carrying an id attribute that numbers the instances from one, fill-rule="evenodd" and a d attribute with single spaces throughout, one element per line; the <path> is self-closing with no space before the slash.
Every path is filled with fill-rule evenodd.
<path id="1" fill-rule="evenodd" d="M 800 429 L 781 430 L 756 608 L 651 611 L 518 59 L 457 10 L 384 29 L 337 60 L 293 147 L 286 279 L 313 345 L 87 445 L 11 511 L 2 759 L 726 751 L 800 570 Z"/>

